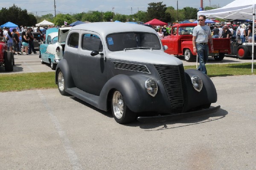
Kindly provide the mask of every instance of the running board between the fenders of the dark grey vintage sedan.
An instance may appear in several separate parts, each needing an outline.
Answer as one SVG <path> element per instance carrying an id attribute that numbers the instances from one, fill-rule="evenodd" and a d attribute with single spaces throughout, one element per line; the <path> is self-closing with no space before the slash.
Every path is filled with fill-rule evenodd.
<path id="1" fill-rule="evenodd" d="M 77 87 L 68 88 L 68 89 L 66 89 L 66 92 L 69 93 L 70 95 L 73 95 L 76 98 L 79 98 L 82 101 L 85 101 L 86 103 L 98 108 L 99 96 L 84 92 L 83 90 L 81 90 Z"/>

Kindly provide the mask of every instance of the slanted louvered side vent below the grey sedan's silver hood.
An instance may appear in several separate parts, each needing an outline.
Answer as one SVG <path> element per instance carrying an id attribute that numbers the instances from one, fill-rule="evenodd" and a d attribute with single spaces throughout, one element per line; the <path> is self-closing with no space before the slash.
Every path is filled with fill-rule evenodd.
<path id="1" fill-rule="evenodd" d="M 134 72 L 143 72 L 147 74 L 151 74 L 148 68 L 145 65 L 134 64 L 134 63 L 122 63 L 117 61 L 112 61 L 114 64 L 115 69 L 124 69 Z"/>

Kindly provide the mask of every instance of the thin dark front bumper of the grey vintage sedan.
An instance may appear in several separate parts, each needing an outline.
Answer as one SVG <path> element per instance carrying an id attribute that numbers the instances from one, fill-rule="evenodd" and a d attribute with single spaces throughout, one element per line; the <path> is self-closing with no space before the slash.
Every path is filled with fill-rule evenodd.
<path id="1" fill-rule="evenodd" d="M 210 113 L 217 112 L 221 106 L 212 107 L 209 109 L 201 109 L 194 112 L 185 112 L 185 113 L 178 113 L 173 115 L 160 115 L 160 116 L 148 116 L 148 117 L 138 117 L 137 120 L 140 122 L 158 122 L 158 121 L 173 121 L 181 118 L 189 118 L 193 116 L 199 116 L 199 115 L 207 115 Z"/>

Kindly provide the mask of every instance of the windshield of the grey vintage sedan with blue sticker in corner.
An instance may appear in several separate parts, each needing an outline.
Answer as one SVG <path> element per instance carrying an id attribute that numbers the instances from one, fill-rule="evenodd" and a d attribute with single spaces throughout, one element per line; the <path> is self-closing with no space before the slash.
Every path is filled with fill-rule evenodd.
<path id="1" fill-rule="evenodd" d="M 125 49 L 161 49 L 157 35 L 147 32 L 121 32 L 106 37 L 112 52 Z M 143 47 L 143 48 L 142 48 Z"/>

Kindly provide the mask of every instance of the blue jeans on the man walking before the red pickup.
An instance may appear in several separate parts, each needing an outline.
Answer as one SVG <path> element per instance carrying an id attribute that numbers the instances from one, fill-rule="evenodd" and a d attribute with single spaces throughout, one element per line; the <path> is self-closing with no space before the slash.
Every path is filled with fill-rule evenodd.
<path id="1" fill-rule="evenodd" d="M 201 72 L 207 75 L 205 64 L 208 61 L 209 46 L 208 44 L 203 45 L 203 44 L 196 43 L 196 50 L 197 50 L 198 59 L 199 59 L 198 70 L 200 70 Z"/>

